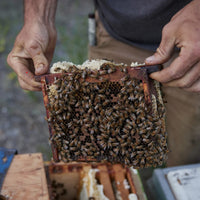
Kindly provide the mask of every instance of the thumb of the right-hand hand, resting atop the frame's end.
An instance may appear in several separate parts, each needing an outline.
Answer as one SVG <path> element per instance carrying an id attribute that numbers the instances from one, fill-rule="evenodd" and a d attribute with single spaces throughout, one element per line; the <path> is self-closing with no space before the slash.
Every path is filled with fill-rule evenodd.
<path id="1" fill-rule="evenodd" d="M 162 39 L 154 55 L 146 58 L 147 65 L 162 64 L 169 60 L 175 46 L 175 38 L 170 33 L 169 26 L 165 26 L 162 32 Z"/>

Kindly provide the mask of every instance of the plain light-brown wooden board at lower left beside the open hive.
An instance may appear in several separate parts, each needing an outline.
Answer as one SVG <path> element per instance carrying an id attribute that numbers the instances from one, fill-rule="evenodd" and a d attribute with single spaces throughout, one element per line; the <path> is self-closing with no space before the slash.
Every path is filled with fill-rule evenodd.
<path id="1" fill-rule="evenodd" d="M 1 194 L 13 200 L 49 200 L 42 154 L 16 155 Z"/>

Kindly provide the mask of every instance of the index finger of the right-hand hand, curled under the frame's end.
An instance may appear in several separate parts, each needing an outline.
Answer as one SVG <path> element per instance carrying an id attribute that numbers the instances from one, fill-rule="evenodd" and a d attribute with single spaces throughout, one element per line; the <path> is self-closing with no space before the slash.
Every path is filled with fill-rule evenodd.
<path id="1" fill-rule="evenodd" d="M 152 73 L 150 77 L 162 83 L 181 78 L 198 61 L 198 57 L 182 47 L 179 56 L 165 69 Z"/>

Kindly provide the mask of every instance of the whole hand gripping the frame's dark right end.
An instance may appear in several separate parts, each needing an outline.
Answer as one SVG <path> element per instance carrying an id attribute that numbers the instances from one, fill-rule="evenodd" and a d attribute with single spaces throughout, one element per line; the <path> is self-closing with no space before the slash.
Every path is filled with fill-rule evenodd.
<path id="1" fill-rule="evenodd" d="M 156 53 L 147 58 L 147 65 L 168 61 L 174 47 L 180 48 L 173 62 L 151 74 L 166 86 L 179 87 L 190 92 L 200 92 L 200 1 L 194 0 L 174 15 L 163 28 L 162 40 Z"/>

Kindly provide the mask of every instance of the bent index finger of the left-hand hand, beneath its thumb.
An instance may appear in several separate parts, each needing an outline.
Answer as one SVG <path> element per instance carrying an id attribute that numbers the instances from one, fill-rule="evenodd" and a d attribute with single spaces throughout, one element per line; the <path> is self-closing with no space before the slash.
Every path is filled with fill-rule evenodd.
<path id="1" fill-rule="evenodd" d="M 29 63 L 26 59 L 18 58 L 15 53 L 11 52 L 8 55 L 7 62 L 27 85 L 41 88 L 41 83 L 35 81 L 34 74 L 29 70 Z"/>

